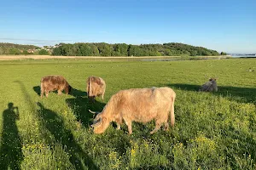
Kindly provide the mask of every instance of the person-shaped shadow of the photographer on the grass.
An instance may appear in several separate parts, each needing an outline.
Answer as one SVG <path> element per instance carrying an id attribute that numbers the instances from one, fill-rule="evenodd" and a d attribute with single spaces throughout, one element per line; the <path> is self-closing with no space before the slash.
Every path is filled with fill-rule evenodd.
<path id="1" fill-rule="evenodd" d="M 18 107 L 13 103 L 8 104 L 8 109 L 3 111 L 3 133 L 1 136 L 0 167 L 1 169 L 20 169 L 23 160 L 21 140 L 16 125 L 19 119 Z"/>

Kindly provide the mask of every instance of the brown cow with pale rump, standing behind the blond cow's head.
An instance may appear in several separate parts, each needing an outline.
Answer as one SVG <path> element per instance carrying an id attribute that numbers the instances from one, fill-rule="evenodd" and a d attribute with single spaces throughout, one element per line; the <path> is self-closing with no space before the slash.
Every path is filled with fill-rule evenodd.
<path id="1" fill-rule="evenodd" d="M 101 77 L 88 77 L 87 79 L 87 95 L 88 98 L 95 100 L 96 96 L 102 95 L 104 99 L 106 83 Z"/>

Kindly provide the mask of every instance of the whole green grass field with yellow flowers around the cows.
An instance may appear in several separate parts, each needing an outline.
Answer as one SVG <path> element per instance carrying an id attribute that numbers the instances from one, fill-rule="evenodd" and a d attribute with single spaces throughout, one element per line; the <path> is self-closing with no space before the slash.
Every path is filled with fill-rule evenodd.
<path id="1" fill-rule="evenodd" d="M 255 169 L 255 67 L 256 59 L 0 61 L 0 167 Z M 54 74 L 66 77 L 73 94 L 40 99 L 41 77 Z M 85 93 L 91 75 L 107 83 L 105 100 L 95 104 Z M 217 93 L 197 92 L 205 75 L 218 77 Z M 131 135 L 125 124 L 118 131 L 115 123 L 103 134 L 92 133 L 89 109 L 102 111 L 121 89 L 163 86 L 177 94 L 176 124 L 169 132 L 150 135 L 149 122 L 133 123 Z"/>

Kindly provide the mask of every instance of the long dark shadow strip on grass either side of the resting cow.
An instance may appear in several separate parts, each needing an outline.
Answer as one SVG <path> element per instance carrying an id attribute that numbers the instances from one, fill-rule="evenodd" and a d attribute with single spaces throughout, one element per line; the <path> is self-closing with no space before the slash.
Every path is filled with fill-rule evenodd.
<path id="1" fill-rule="evenodd" d="M 167 84 L 170 88 L 180 88 L 187 91 L 198 91 L 200 86 L 193 84 Z M 256 88 L 238 88 L 231 86 L 218 86 L 218 92 L 213 92 L 215 95 L 222 95 L 224 97 L 238 97 L 237 102 L 254 103 L 256 105 Z"/>

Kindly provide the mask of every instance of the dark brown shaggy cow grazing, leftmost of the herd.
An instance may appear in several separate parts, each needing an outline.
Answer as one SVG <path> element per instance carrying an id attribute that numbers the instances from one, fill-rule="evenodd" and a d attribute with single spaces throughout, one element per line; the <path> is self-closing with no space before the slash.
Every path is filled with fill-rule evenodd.
<path id="1" fill-rule="evenodd" d="M 65 80 L 64 77 L 61 76 L 47 76 L 41 79 L 41 98 L 43 98 L 44 93 L 48 98 L 48 94 L 50 91 L 58 90 L 58 94 L 62 94 L 61 92 L 65 90 L 66 94 L 70 94 L 71 86 Z"/>

